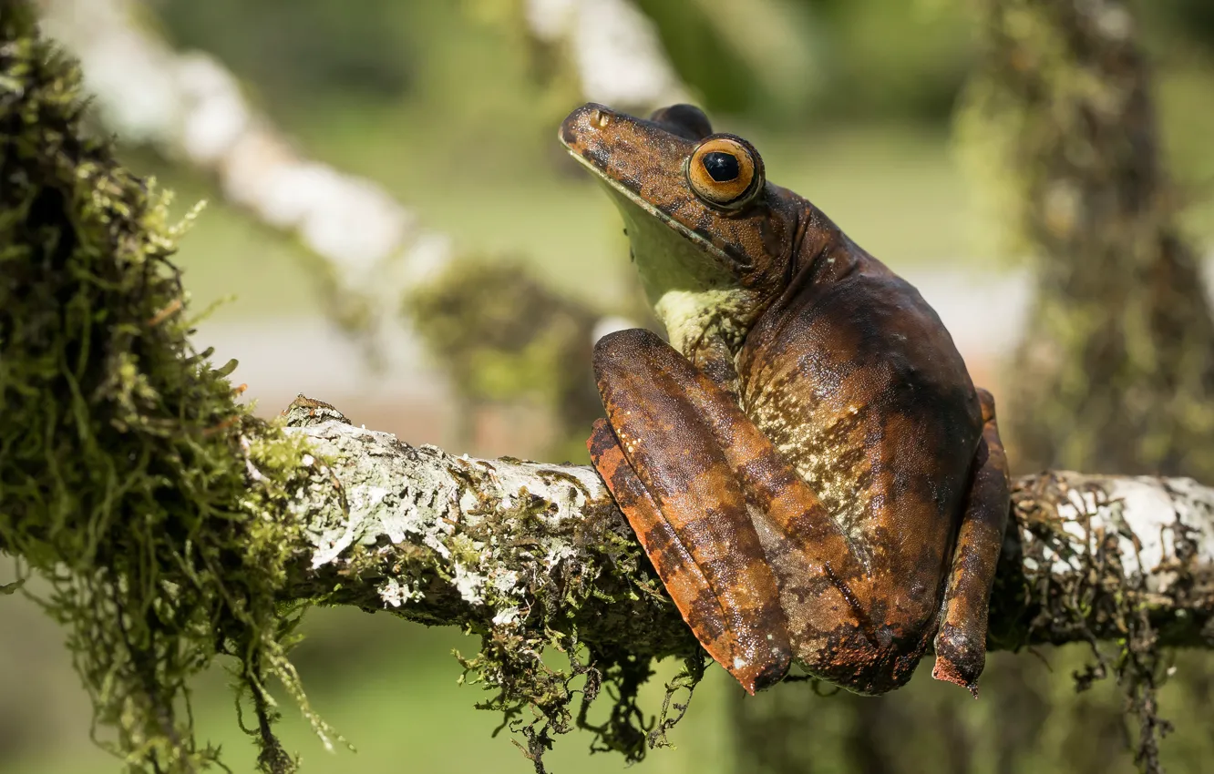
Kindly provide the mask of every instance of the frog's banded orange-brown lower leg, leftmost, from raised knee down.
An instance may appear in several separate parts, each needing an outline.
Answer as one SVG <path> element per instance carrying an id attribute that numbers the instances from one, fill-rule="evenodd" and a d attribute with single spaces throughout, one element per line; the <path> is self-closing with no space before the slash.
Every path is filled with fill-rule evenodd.
<path id="1" fill-rule="evenodd" d="M 591 457 L 683 620 L 748 692 L 779 682 L 788 624 L 742 485 L 686 398 L 703 377 L 641 330 L 605 337 L 595 374 L 607 421 L 595 426 Z"/>

